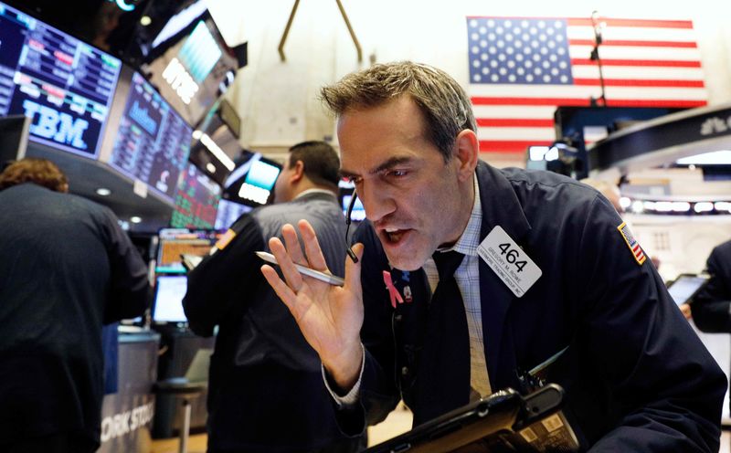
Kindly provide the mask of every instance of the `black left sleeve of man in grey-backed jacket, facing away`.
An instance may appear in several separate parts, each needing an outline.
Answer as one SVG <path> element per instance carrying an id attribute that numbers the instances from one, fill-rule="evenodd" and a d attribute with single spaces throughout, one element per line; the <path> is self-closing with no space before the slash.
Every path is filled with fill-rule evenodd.
<path id="1" fill-rule="evenodd" d="M 183 308 L 191 330 L 198 335 L 213 335 L 214 327 L 236 300 L 245 298 L 247 285 L 260 281 L 263 262 L 254 252 L 267 249 L 261 228 L 254 217 L 244 215 L 231 230 L 236 236 L 188 274 Z M 254 276 L 256 278 L 252 278 Z"/>

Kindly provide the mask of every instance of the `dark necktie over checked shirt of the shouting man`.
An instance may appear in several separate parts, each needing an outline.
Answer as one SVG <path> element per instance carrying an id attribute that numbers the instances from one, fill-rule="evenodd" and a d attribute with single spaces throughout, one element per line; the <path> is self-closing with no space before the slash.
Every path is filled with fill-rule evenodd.
<path id="1" fill-rule="evenodd" d="M 432 256 L 440 282 L 431 297 L 424 338 L 418 393 L 425 405 L 421 421 L 470 402 L 470 335 L 464 303 L 454 279 L 464 255 L 456 251 Z"/>

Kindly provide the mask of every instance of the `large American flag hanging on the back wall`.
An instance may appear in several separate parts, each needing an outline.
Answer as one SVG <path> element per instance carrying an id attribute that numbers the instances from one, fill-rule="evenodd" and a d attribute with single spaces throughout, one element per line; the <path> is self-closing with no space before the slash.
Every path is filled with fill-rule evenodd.
<path id="1" fill-rule="evenodd" d="M 693 22 L 598 22 L 608 106 L 706 105 Z M 589 98 L 601 95 L 599 67 L 590 58 L 591 18 L 468 16 L 467 34 L 468 90 L 482 152 L 523 153 L 529 145 L 550 145 L 556 107 L 588 106 Z"/>

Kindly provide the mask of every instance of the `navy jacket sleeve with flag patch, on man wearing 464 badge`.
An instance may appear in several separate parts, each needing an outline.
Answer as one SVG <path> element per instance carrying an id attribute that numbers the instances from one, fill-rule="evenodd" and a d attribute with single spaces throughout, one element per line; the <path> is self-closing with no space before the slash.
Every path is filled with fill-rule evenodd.
<path id="1" fill-rule="evenodd" d="M 630 252 L 620 222 L 598 197 L 577 237 L 583 360 L 620 406 L 618 423 L 590 451 L 718 451 L 726 377 L 650 259 Z"/>

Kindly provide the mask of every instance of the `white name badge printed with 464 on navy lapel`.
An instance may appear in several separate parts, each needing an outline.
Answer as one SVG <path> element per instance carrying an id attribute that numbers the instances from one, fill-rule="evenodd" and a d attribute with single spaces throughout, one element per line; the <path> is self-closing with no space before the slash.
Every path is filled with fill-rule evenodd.
<path id="1" fill-rule="evenodd" d="M 494 227 L 477 248 L 477 253 L 517 297 L 523 297 L 543 274 L 503 227 Z"/>

